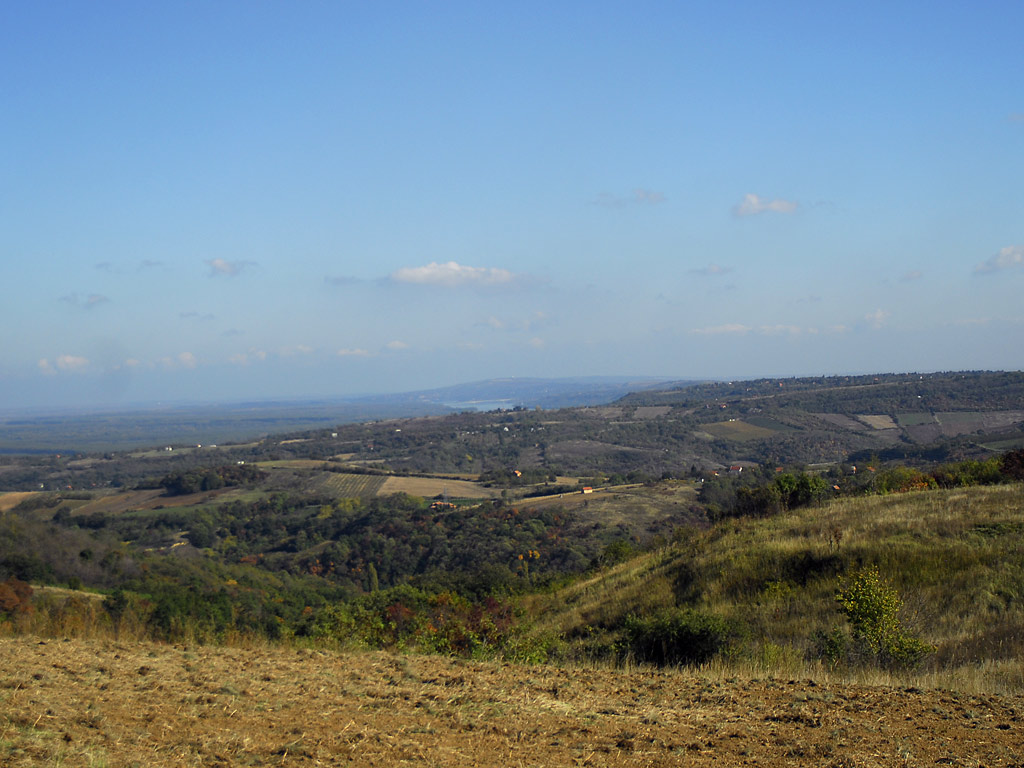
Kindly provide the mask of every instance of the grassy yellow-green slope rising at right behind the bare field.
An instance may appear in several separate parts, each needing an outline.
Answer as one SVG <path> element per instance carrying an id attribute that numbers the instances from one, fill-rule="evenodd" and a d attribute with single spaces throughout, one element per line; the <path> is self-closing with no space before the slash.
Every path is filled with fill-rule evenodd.
<path id="1" fill-rule="evenodd" d="M 842 499 L 766 519 L 690 529 L 678 541 L 547 596 L 530 598 L 538 636 L 567 658 L 636 652 L 630 617 L 684 616 L 717 628 L 715 664 L 763 673 L 857 673 L 836 596 L 877 567 L 901 597 L 906 633 L 934 647 L 914 674 L 1024 690 L 1024 488 L 1001 485 Z M 897 668 L 899 665 L 888 665 Z M 972 682 L 973 681 L 973 682 Z"/>

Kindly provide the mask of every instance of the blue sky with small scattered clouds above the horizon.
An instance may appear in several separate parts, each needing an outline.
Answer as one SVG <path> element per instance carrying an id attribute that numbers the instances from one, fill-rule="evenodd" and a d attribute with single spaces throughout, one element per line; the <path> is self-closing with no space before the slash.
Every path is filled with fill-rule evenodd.
<path id="1" fill-rule="evenodd" d="M 0 404 L 1019 370 L 1022 29 L 6 3 Z"/>

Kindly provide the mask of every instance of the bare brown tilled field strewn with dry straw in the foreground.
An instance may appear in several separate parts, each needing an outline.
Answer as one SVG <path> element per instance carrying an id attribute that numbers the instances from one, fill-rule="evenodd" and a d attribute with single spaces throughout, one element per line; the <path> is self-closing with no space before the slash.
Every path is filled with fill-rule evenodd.
<path id="1" fill-rule="evenodd" d="M 1024 698 L 0 639 L 3 766 L 1020 766 Z"/>

